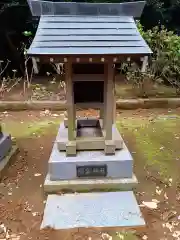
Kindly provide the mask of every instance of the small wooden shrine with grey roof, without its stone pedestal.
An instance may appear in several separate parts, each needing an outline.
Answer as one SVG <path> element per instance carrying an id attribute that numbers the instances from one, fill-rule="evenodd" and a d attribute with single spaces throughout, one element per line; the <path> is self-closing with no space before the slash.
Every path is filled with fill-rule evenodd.
<path id="1" fill-rule="evenodd" d="M 59 141 L 59 150 L 67 156 L 76 155 L 77 150 L 104 149 L 106 155 L 115 154 L 122 148 L 122 140 L 112 128 L 114 66 L 140 58 L 146 64 L 151 50 L 133 19 L 140 16 L 144 2 L 53 4 L 30 3 L 34 15 L 41 18 L 28 54 L 65 66 L 67 136 Z M 100 118 L 76 118 L 78 108 L 99 109 Z"/>

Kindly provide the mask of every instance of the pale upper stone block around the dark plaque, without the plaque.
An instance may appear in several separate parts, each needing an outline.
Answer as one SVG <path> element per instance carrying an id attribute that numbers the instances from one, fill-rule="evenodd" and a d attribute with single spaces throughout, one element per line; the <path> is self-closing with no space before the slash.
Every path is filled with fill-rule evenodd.
<path id="1" fill-rule="evenodd" d="M 50 180 L 77 179 L 78 166 L 107 165 L 108 178 L 132 178 L 133 158 L 123 142 L 123 149 L 116 150 L 115 155 L 105 155 L 104 151 L 78 151 L 76 156 L 66 156 L 66 152 L 59 151 L 58 131 L 49 159 Z"/>

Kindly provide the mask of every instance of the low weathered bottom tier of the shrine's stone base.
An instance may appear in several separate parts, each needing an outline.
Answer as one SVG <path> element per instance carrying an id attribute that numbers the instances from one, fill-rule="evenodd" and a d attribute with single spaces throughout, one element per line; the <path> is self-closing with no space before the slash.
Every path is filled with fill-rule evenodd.
<path id="1" fill-rule="evenodd" d="M 128 191 L 138 184 L 135 175 L 132 178 L 105 178 L 105 179 L 76 179 L 51 181 L 47 175 L 44 182 L 46 193 L 58 192 L 93 192 L 93 191 Z"/>

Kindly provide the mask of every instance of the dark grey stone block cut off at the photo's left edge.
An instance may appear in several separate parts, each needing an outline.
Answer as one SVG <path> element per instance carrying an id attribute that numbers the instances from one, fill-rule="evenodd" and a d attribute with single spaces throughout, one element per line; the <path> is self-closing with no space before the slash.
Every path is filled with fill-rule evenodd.
<path id="1" fill-rule="evenodd" d="M 12 147 L 11 135 L 4 134 L 0 138 L 0 162 L 8 154 Z"/>

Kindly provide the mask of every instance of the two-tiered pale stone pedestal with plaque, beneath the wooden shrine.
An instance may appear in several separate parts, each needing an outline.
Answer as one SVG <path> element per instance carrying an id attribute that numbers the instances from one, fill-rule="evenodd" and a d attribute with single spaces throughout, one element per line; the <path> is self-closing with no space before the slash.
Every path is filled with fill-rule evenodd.
<path id="1" fill-rule="evenodd" d="M 66 152 L 59 149 L 59 143 L 67 140 L 67 128 L 61 123 L 48 163 L 45 190 L 87 190 L 92 183 L 100 189 L 103 184 L 120 189 L 126 183 L 126 189 L 132 189 L 137 183 L 133 158 L 115 125 L 112 132 L 114 139 L 122 142 L 122 149 L 117 149 L 114 155 L 105 155 L 103 150 L 80 150 L 76 156 L 66 156 Z"/>

